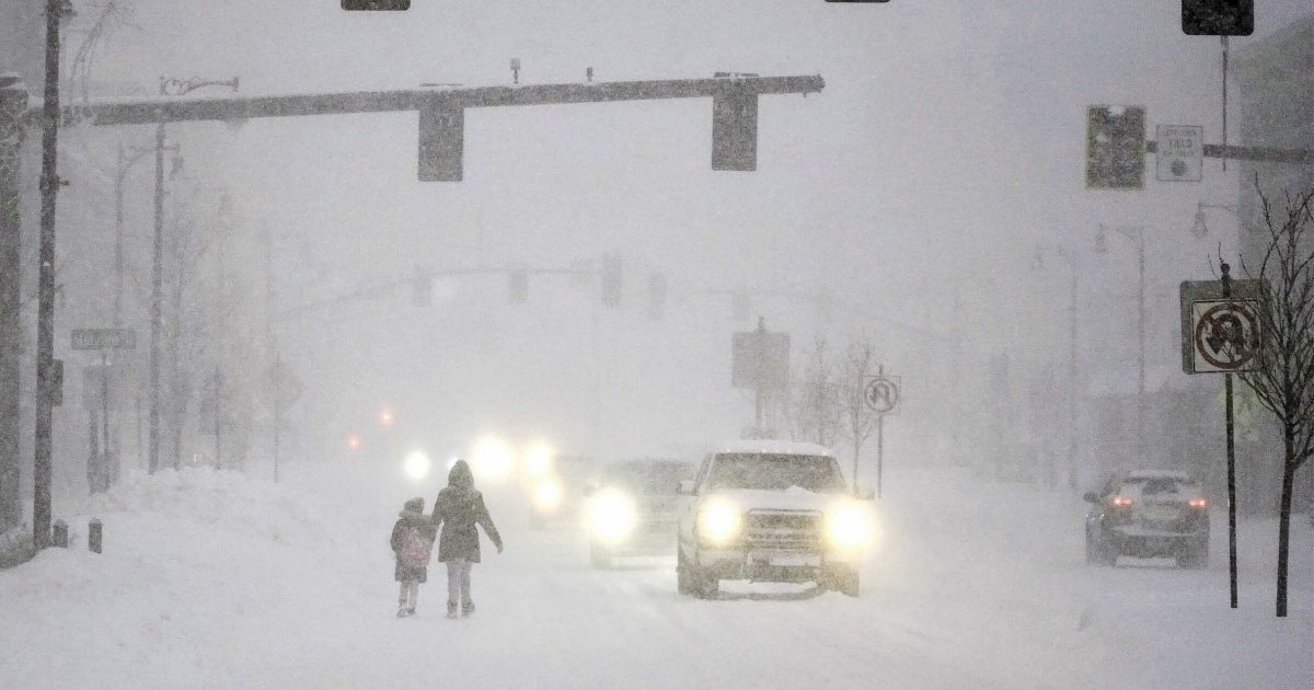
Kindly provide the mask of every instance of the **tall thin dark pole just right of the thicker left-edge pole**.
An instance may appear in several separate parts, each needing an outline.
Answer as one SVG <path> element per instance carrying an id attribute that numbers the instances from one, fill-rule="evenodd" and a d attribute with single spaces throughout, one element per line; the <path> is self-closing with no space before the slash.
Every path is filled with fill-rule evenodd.
<path id="1" fill-rule="evenodd" d="M 55 407 L 55 196 L 59 192 L 59 21 L 63 3 L 46 0 L 46 88 L 41 118 L 41 246 L 37 277 L 37 428 L 33 457 L 32 540 L 50 545 L 51 422 Z M 71 16 L 71 8 L 70 8 Z"/>

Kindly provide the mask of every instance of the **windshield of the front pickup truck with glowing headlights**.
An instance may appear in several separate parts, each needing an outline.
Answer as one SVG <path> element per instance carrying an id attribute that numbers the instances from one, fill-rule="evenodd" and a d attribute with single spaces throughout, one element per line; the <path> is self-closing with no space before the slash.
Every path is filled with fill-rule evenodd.
<path id="1" fill-rule="evenodd" d="M 799 486 L 816 493 L 844 492 L 833 457 L 821 455 L 723 453 L 712 461 L 708 489 L 783 492 Z"/>

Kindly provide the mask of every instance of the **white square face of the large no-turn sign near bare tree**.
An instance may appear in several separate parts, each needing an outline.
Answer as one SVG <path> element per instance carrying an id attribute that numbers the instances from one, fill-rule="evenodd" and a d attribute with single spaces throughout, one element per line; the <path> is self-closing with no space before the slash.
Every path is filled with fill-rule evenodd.
<path id="1" fill-rule="evenodd" d="M 1190 305 L 1192 350 L 1197 372 L 1240 372 L 1254 368 L 1260 346 L 1255 300 L 1209 300 Z"/>

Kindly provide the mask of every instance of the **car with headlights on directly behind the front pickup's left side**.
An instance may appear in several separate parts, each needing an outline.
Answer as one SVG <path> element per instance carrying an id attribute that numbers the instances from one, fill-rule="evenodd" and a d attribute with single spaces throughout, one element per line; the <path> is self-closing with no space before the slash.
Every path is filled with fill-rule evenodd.
<path id="1" fill-rule="evenodd" d="M 587 490 L 593 566 L 610 568 L 618 556 L 670 553 L 679 482 L 694 478 L 695 471 L 692 463 L 650 457 L 604 465 Z"/>

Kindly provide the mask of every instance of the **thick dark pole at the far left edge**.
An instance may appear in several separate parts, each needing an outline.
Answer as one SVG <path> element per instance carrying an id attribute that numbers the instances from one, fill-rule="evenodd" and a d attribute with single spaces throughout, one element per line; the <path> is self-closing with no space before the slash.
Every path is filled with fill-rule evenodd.
<path id="1" fill-rule="evenodd" d="M 21 120 L 26 110 L 26 84 L 16 74 L 0 75 L 0 534 L 22 523 L 18 499 L 18 439 L 22 434 L 18 164 L 24 138 Z"/>

